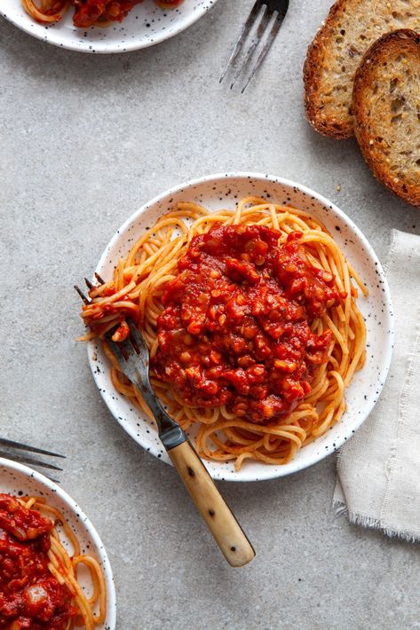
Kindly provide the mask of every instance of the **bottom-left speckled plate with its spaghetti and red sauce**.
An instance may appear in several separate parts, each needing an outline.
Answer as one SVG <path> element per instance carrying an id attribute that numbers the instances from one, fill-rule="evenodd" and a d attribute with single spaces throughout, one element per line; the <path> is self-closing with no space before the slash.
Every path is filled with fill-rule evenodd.
<path id="1" fill-rule="evenodd" d="M 107 552 L 66 492 L 35 470 L 0 458 L 0 529 L 1 627 L 43 622 L 63 630 L 115 630 Z"/>

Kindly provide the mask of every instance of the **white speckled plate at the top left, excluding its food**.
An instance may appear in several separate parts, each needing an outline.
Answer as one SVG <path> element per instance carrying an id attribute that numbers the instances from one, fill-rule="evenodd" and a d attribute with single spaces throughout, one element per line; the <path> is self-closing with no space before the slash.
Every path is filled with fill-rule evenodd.
<path id="1" fill-rule="evenodd" d="M 54 46 L 81 52 L 125 52 L 163 42 L 194 24 L 217 0 L 184 0 L 176 9 L 162 10 L 153 0 L 135 6 L 125 20 L 106 28 L 87 30 L 73 26 L 71 7 L 62 20 L 38 24 L 24 11 L 20 0 L 3 0 L 0 15 L 17 27 Z"/>

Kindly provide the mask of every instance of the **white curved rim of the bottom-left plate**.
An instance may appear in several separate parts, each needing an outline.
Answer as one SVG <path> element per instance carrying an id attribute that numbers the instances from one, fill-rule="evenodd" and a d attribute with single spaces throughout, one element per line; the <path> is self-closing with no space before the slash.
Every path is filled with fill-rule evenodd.
<path id="1" fill-rule="evenodd" d="M 99 537 L 99 533 L 96 531 L 94 525 L 91 523 L 91 519 L 87 516 L 83 509 L 75 502 L 74 499 L 58 484 L 53 482 L 48 477 L 35 469 L 31 469 L 26 464 L 21 464 L 18 461 L 8 460 L 5 457 L 0 457 L 0 468 L 12 469 L 27 476 L 28 479 L 35 479 L 39 484 L 46 486 L 53 494 L 57 494 L 61 500 L 63 500 L 67 508 L 77 516 L 77 521 L 82 524 L 87 530 L 91 539 L 93 539 L 95 545 L 99 549 L 100 561 L 104 569 L 104 578 L 107 585 L 107 630 L 115 630 L 116 627 L 116 592 L 115 592 L 115 580 L 112 571 L 111 563 L 107 555 L 107 549 Z"/>

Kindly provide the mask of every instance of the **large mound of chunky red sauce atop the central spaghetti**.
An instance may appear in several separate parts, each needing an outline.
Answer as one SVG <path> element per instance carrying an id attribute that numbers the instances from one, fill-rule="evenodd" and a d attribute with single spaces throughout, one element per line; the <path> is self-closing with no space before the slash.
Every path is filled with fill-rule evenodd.
<path id="1" fill-rule="evenodd" d="M 309 264 L 292 232 L 262 225 L 210 229 L 191 241 L 165 287 L 153 367 L 186 404 L 226 405 L 257 423 L 286 417 L 311 391 L 332 334 L 313 319 L 345 296 Z"/>

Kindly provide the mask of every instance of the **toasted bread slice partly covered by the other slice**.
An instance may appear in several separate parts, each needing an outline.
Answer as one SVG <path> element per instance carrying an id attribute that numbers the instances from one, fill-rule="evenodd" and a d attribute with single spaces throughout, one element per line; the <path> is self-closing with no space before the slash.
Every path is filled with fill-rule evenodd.
<path id="1" fill-rule="evenodd" d="M 353 79 L 368 47 L 398 28 L 420 32 L 420 0 L 338 0 L 313 43 L 304 68 L 306 115 L 330 138 L 353 136 Z"/>

